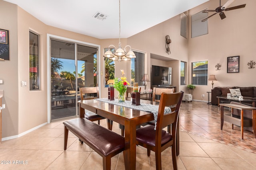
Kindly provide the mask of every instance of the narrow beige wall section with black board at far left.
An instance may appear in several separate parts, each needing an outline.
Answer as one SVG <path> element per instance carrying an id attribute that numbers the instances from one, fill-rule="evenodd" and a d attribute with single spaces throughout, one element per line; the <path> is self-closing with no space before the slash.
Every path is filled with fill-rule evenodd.
<path id="1" fill-rule="evenodd" d="M 18 93 L 18 12 L 17 6 L 0 0 L 0 28 L 9 30 L 10 61 L 0 61 L 0 89 L 4 90 L 2 103 L 2 137 L 18 134 L 19 93 Z M 11 114 L 10 114 L 11 113 Z"/>

